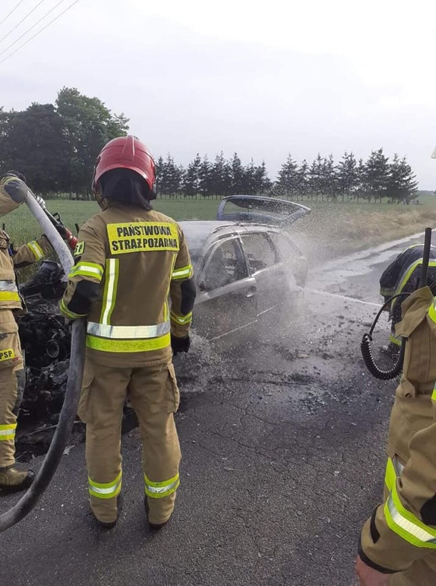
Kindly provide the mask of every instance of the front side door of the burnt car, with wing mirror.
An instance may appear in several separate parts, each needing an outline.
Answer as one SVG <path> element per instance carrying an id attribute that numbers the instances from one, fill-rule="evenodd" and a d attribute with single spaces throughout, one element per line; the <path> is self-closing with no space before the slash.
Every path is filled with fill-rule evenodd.
<path id="1" fill-rule="evenodd" d="M 238 335 L 256 323 L 256 280 L 248 274 L 236 235 L 213 243 L 197 280 L 193 328 L 214 340 Z"/>

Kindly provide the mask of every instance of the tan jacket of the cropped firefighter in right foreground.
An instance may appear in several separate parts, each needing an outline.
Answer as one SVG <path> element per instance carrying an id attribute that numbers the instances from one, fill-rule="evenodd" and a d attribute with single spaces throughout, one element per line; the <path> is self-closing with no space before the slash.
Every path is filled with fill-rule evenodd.
<path id="1" fill-rule="evenodd" d="M 430 288 L 403 302 L 397 333 L 407 344 L 390 418 L 384 504 L 363 527 L 359 553 L 385 573 L 420 560 L 436 575 L 436 298 Z"/>

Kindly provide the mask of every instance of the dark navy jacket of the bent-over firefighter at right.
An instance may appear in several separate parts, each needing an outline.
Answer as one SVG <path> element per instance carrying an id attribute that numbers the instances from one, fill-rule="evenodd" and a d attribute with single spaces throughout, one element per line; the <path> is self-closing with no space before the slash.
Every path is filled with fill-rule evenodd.
<path id="1" fill-rule="evenodd" d="M 424 245 L 415 244 L 406 248 L 397 258 L 383 271 L 380 277 L 380 295 L 387 301 L 397 293 L 411 293 L 415 291 L 421 276 L 423 264 Z M 428 280 L 431 284 L 436 281 L 436 247 L 430 248 L 430 263 L 428 264 Z M 421 286 L 424 285 L 421 283 Z M 394 299 L 391 311 L 394 307 L 401 305 L 401 298 Z M 401 312 L 400 312 L 401 315 Z"/>

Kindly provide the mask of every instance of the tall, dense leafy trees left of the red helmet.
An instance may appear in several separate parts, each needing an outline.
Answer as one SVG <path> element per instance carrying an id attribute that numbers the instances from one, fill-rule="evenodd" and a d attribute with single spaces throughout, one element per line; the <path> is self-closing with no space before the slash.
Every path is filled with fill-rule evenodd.
<path id="1" fill-rule="evenodd" d="M 127 130 L 124 114 L 64 87 L 55 104 L 33 103 L 23 111 L 0 108 L 0 170 L 24 173 L 32 189 L 45 196 L 87 198 L 98 153 Z"/>

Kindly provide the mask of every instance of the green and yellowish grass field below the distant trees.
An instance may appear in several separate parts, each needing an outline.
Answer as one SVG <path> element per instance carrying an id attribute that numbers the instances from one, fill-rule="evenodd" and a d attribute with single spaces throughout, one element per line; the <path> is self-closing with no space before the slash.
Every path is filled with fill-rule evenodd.
<path id="1" fill-rule="evenodd" d="M 399 239 L 436 225 L 436 197 L 423 196 L 420 206 L 308 202 L 312 213 L 291 227 L 295 239 L 312 260 L 331 258 L 346 251 L 362 250 L 384 241 Z M 213 220 L 218 200 L 162 200 L 154 208 L 176 220 Z M 94 202 L 49 200 L 50 212 L 59 212 L 64 224 L 74 230 L 98 212 Z M 40 233 L 26 206 L 5 217 L 5 229 L 15 246 Z"/>

